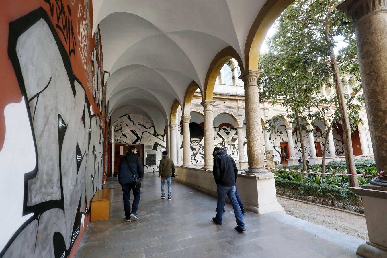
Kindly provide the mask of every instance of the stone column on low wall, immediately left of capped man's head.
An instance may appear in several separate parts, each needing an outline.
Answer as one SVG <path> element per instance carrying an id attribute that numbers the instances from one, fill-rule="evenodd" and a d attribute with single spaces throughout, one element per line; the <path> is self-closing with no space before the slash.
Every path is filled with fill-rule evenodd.
<path id="1" fill-rule="evenodd" d="M 214 115 L 212 109 L 215 101 L 205 100 L 200 103 L 204 109 L 204 166 L 202 169 L 212 169 L 214 166 Z"/>

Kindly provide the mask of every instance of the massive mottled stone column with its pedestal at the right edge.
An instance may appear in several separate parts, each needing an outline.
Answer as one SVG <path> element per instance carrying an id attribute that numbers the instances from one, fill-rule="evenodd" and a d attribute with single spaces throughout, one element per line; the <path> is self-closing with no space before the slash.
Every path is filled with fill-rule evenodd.
<path id="1" fill-rule="evenodd" d="M 378 172 L 387 174 L 387 1 L 346 0 L 337 9 L 353 20 L 356 47 L 372 147 Z M 370 241 L 361 244 L 363 257 L 387 257 L 387 176 L 353 187 L 363 197 Z"/>

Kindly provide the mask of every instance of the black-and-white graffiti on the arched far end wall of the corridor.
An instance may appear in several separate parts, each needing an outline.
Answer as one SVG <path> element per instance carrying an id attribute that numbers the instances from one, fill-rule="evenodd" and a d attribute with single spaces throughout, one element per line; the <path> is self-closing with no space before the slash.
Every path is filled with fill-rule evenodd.
<path id="1" fill-rule="evenodd" d="M 144 147 L 151 145 L 151 150 L 156 151 L 156 165 L 146 166 L 144 164 L 144 172 L 158 171 L 162 153 L 166 150 L 166 143 L 165 136 L 156 132 L 151 121 L 140 114 L 126 114 L 118 118 L 113 126 L 115 128 L 114 142 L 118 144 L 144 144 Z"/>

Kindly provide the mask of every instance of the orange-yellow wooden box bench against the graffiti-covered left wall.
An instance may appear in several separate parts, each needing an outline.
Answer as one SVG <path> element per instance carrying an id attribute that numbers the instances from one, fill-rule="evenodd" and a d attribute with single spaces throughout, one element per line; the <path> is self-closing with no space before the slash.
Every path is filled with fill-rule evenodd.
<path id="1" fill-rule="evenodd" d="M 91 200 L 91 221 L 109 219 L 110 189 L 96 191 Z"/>

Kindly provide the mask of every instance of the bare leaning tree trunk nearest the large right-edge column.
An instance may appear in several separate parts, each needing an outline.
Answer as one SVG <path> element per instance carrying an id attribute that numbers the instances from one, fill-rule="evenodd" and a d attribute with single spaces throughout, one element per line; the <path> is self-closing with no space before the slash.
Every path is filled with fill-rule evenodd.
<path id="1" fill-rule="evenodd" d="M 336 62 L 336 56 L 334 54 L 333 46 L 329 48 L 330 53 L 330 65 L 332 66 L 332 71 L 334 74 L 334 84 L 336 88 L 336 96 L 339 103 L 342 129 L 344 133 L 344 151 L 347 164 L 347 173 L 356 174 L 355 161 L 353 159 L 353 149 L 352 149 L 352 138 L 351 138 L 351 126 L 349 125 L 348 110 L 346 101 L 344 99 L 344 93 L 342 92 L 341 87 L 341 78 L 339 73 L 339 68 Z M 349 186 L 356 187 L 359 186 L 359 181 L 357 176 L 349 176 Z"/>

